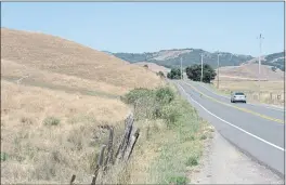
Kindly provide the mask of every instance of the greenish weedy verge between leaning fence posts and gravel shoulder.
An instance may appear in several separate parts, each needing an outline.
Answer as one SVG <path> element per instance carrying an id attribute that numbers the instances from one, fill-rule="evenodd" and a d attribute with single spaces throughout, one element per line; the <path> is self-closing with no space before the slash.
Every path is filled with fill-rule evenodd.
<path id="1" fill-rule="evenodd" d="M 136 103 L 138 125 L 142 131 L 130 166 L 129 184 L 186 184 L 187 173 L 199 163 L 204 141 L 210 137 L 212 128 L 173 87 L 171 93 L 169 90 L 141 89 L 128 94 Z M 159 93 L 172 101 L 161 105 L 156 101 Z"/>

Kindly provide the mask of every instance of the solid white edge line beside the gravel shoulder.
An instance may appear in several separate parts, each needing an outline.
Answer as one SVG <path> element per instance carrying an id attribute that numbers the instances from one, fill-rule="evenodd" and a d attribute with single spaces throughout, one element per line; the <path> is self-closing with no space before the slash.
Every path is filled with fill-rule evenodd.
<path id="1" fill-rule="evenodd" d="M 235 129 L 237 129 L 237 130 L 239 130 L 239 131 L 242 131 L 242 132 L 244 132 L 244 133 L 246 133 L 246 134 L 248 134 L 248 135 L 250 135 L 250 136 L 257 138 L 257 140 L 259 140 L 259 141 L 261 141 L 261 142 L 263 142 L 263 143 L 265 143 L 265 144 L 268 144 L 268 145 L 270 145 L 270 146 L 273 146 L 273 147 L 276 148 L 276 149 L 280 149 L 280 150 L 282 150 L 282 151 L 285 151 L 284 148 L 282 148 L 282 147 L 280 147 L 280 146 L 277 146 L 277 145 L 274 145 L 274 144 L 272 144 L 272 143 L 270 143 L 270 142 L 268 142 L 268 141 L 265 141 L 265 140 L 263 140 L 263 138 L 261 138 L 261 137 L 255 135 L 255 134 L 251 134 L 251 133 L 247 132 L 246 130 L 244 130 L 244 129 L 242 129 L 242 128 L 239 128 L 239 127 L 237 127 L 237 125 L 234 125 L 234 124 L 232 124 L 232 123 L 225 121 L 224 119 L 218 117 L 217 115 L 210 113 L 207 108 L 205 108 L 205 107 L 204 107 L 203 105 L 200 105 L 198 102 L 196 102 L 195 100 L 193 100 L 193 98 L 192 98 L 192 97 L 185 92 L 185 90 L 181 87 L 181 84 L 179 84 L 179 83 L 177 83 L 177 84 L 182 89 L 182 91 L 185 93 L 185 95 L 187 96 L 187 98 L 190 98 L 192 102 L 196 103 L 199 107 L 202 107 L 205 111 L 207 111 L 207 113 L 210 114 L 211 116 L 216 117 L 217 119 L 219 119 L 219 120 L 225 122 L 226 124 L 229 124 L 229 125 L 231 125 L 231 127 L 233 127 L 233 128 L 235 128 Z"/>

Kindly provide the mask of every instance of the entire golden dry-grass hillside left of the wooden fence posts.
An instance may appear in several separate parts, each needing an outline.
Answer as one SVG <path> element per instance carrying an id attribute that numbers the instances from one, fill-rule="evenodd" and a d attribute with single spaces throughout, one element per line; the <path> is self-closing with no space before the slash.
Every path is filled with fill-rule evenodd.
<path id="1" fill-rule="evenodd" d="M 161 84 L 150 70 L 73 41 L 1 28 L 1 182 L 67 183 L 74 173 L 90 183 L 106 137 L 99 125 L 119 133 L 130 111 L 118 96 Z"/>

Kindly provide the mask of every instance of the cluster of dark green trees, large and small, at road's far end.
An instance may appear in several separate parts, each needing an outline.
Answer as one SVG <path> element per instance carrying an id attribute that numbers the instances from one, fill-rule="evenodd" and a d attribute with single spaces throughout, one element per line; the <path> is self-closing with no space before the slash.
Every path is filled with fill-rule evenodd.
<path id="1" fill-rule="evenodd" d="M 188 79 L 194 81 L 200 81 L 202 66 L 194 64 L 185 68 L 185 72 Z M 214 69 L 209 64 L 203 65 L 203 82 L 210 83 L 211 80 L 216 78 L 217 74 Z M 173 68 L 167 75 L 169 79 L 181 79 L 181 70 L 179 68 Z"/>

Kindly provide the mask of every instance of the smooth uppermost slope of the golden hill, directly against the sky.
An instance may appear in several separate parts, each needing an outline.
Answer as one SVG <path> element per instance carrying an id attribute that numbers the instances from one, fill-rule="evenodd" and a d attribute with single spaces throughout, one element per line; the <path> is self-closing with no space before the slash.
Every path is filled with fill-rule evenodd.
<path id="1" fill-rule="evenodd" d="M 123 88 L 155 88 L 160 78 L 115 56 L 44 34 L 1 28 L 1 58 L 26 67 Z"/>

